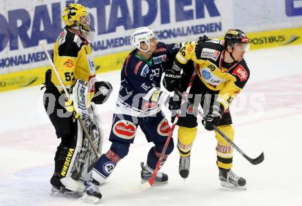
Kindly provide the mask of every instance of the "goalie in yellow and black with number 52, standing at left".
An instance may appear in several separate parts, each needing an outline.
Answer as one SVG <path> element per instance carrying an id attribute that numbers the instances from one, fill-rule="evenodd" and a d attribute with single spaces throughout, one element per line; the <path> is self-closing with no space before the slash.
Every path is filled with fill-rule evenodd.
<path id="1" fill-rule="evenodd" d="M 76 119 L 88 119 L 91 101 L 102 104 L 110 95 L 112 87 L 109 82 L 95 80 L 89 44 L 89 37 L 94 29 L 90 25 L 86 8 L 79 3 L 70 3 L 62 13 L 62 21 L 65 27 L 56 39 L 53 61 L 71 98 L 67 100 L 60 81 L 54 71 L 49 69 L 45 74 L 44 105 L 56 135 L 61 140 L 54 158 L 51 192 L 75 194 L 62 183 L 62 178 L 72 175 L 71 167 L 75 165 L 73 161 L 78 161 L 80 154 L 77 152 L 78 139 L 82 142 L 83 135 L 80 136 L 82 127 L 78 126 Z M 75 155 L 77 158 L 72 158 Z M 96 190 L 94 192 L 98 195 Z"/>

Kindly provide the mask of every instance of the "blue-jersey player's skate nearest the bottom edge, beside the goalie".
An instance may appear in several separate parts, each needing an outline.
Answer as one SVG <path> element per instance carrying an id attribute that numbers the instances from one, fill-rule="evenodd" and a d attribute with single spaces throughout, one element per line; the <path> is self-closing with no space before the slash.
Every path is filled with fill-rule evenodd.
<path id="1" fill-rule="evenodd" d="M 99 203 L 102 198 L 102 194 L 99 190 L 99 184 L 97 181 L 89 181 L 86 183 L 86 191 L 82 196 L 82 201 L 85 203 L 96 204 Z"/>

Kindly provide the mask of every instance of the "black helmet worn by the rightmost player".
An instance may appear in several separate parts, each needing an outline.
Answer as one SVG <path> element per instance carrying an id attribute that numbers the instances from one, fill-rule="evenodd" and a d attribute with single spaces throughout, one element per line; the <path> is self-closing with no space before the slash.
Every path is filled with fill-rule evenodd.
<path id="1" fill-rule="evenodd" d="M 224 36 L 224 45 L 234 47 L 235 43 L 247 44 L 248 38 L 242 30 L 228 30 Z"/>

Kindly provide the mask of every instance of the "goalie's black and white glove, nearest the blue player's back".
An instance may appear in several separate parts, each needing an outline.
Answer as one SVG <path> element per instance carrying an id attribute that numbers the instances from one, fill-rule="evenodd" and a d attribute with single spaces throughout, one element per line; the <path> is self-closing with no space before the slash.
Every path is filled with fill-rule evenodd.
<path id="1" fill-rule="evenodd" d="M 92 102 L 95 104 L 103 104 L 106 102 L 113 91 L 113 87 L 109 82 L 95 82 L 95 95 Z"/>

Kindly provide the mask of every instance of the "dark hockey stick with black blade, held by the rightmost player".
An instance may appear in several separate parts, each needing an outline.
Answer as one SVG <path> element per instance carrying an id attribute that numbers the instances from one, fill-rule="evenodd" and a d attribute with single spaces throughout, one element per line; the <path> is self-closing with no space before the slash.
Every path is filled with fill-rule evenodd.
<path id="1" fill-rule="evenodd" d="M 178 89 L 175 89 L 175 92 L 178 95 L 182 96 L 181 91 L 179 91 Z M 190 106 L 192 106 L 196 111 L 198 111 L 198 114 L 202 117 L 205 118 L 205 115 L 196 107 L 194 106 L 194 104 L 192 104 L 186 97 L 185 97 L 185 102 L 187 102 Z M 262 161 L 264 161 L 264 152 L 262 152 L 258 157 L 256 157 L 255 159 L 248 157 L 244 152 L 242 152 L 242 150 L 240 150 L 240 148 L 235 145 L 235 143 L 233 143 L 233 141 L 231 141 L 231 139 L 229 139 L 229 137 L 227 137 L 227 135 L 225 135 L 224 133 L 222 133 L 222 131 L 218 128 L 218 126 L 213 125 L 214 130 L 216 130 L 227 142 L 229 142 L 229 144 L 231 144 L 231 146 L 233 146 L 233 148 L 235 148 L 237 150 L 237 152 L 239 152 L 245 159 L 247 159 L 250 163 L 252 163 L 253 165 L 257 165 L 259 163 L 262 163 Z"/>

